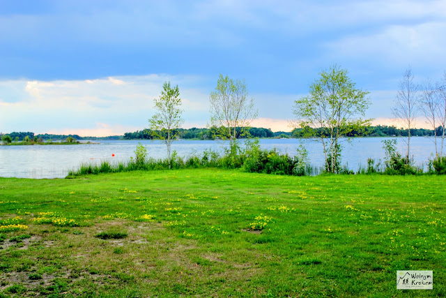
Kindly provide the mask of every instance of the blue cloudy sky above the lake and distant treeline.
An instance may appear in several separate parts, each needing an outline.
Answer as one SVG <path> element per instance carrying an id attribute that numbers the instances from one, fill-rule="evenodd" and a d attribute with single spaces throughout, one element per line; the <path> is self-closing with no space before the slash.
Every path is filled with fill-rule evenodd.
<path id="1" fill-rule="evenodd" d="M 205 127 L 220 73 L 245 79 L 253 126 L 291 131 L 294 100 L 334 64 L 370 92 L 366 116 L 392 124 L 406 68 L 443 77 L 445 32 L 445 0 L 0 0 L 0 132 L 141 130 L 165 81 L 183 127 Z"/>

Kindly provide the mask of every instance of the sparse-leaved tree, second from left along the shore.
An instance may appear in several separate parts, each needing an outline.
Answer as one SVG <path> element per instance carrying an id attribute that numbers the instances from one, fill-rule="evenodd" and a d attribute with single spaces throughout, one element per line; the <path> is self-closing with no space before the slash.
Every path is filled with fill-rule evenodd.
<path id="1" fill-rule="evenodd" d="M 254 99 L 248 98 L 245 80 L 233 80 L 222 74 L 210 93 L 210 124 L 215 136 L 229 140 L 235 149 L 237 137 L 249 133 L 249 124 L 257 116 Z"/>

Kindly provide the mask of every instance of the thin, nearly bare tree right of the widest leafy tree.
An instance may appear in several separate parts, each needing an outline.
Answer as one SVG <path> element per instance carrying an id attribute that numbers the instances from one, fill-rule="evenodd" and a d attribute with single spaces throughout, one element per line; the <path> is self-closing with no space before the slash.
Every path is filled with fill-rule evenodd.
<path id="1" fill-rule="evenodd" d="M 420 113 L 419 86 L 414 82 L 411 68 L 403 73 L 394 105 L 392 114 L 395 120 L 408 131 L 406 163 L 410 163 L 410 129 L 415 128 L 416 117 Z"/>

